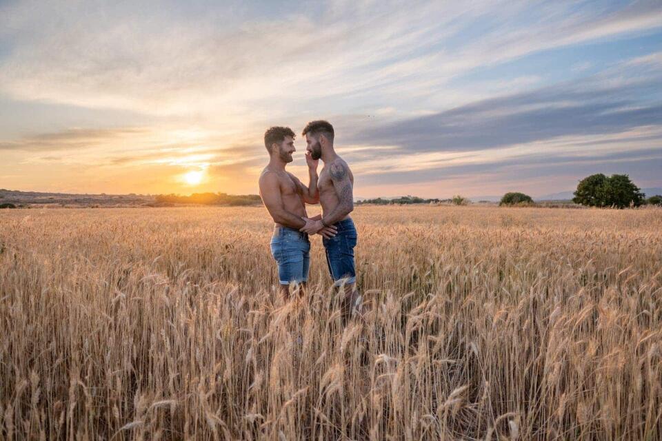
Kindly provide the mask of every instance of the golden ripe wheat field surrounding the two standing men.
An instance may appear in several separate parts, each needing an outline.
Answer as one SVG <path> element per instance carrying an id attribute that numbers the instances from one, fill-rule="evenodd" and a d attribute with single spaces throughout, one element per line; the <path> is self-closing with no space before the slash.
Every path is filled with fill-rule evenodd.
<path id="1" fill-rule="evenodd" d="M 662 209 L 353 217 L 343 327 L 263 208 L 3 210 L 0 438 L 662 438 Z"/>

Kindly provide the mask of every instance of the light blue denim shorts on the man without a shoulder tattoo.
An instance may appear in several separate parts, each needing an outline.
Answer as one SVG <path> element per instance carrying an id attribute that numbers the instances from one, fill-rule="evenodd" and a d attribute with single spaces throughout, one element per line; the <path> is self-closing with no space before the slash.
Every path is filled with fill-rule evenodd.
<path id="1" fill-rule="evenodd" d="M 271 238 L 271 254 L 278 264 L 281 285 L 307 282 L 310 268 L 308 234 L 289 227 L 275 227 Z"/>

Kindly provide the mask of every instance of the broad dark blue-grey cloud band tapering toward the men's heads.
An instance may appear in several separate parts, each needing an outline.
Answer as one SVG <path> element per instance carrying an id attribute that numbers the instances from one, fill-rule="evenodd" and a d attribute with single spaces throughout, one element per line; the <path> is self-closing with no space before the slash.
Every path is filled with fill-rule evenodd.
<path id="1" fill-rule="evenodd" d="M 357 131 L 350 142 L 397 145 L 401 154 L 483 150 L 554 139 L 610 134 L 662 124 L 662 100 L 639 102 L 662 78 L 603 87 L 588 81 L 470 103 L 432 115 Z M 658 89 L 659 90 L 659 89 Z"/>

